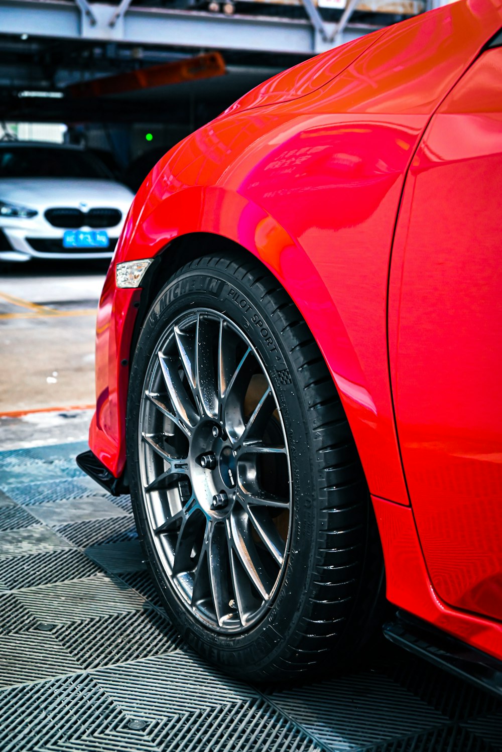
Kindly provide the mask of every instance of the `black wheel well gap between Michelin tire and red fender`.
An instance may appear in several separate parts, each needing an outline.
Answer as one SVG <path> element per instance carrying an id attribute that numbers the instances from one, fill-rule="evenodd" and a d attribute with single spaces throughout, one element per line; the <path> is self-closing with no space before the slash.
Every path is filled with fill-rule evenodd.
<path id="1" fill-rule="evenodd" d="M 132 333 L 129 362 L 132 362 L 141 326 L 150 310 L 150 306 L 169 277 L 172 277 L 178 269 L 189 261 L 201 258 L 201 256 L 205 256 L 207 253 L 214 253 L 216 250 L 231 251 L 236 256 L 238 254 L 249 253 L 246 248 L 238 243 L 222 235 L 216 235 L 213 232 L 190 232 L 188 235 L 174 238 L 163 250 L 157 253 L 141 285 L 143 292 L 141 293 L 138 315 Z"/>

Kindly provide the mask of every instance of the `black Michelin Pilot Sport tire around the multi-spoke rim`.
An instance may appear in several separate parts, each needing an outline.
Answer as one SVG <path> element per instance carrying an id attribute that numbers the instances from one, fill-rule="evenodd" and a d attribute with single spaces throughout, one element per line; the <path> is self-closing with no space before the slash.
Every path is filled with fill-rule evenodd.
<path id="1" fill-rule="evenodd" d="M 292 468 L 289 555 L 259 623 L 208 629 L 180 602 L 160 562 L 140 478 L 145 375 L 169 322 L 200 305 L 230 318 L 265 363 L 283 413 Z M 383 556 L 361 462 L 319 347 L 289 296 L 250 256 L 204 256 L 177 271 L 144 321 L 130 374 L 127 453 L 132 505 L 162 602 L 186 641 L 240 678 L 283 681 L 351 665 L 383 605 Z"/>

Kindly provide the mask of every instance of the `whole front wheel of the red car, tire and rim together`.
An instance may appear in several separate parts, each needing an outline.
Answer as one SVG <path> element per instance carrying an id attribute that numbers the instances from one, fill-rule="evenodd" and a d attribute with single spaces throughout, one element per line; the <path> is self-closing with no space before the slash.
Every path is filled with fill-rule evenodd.
<path id="1" fill-rule="evenodd" d="M 367 640 L 383 564 L 361 463 L 319 348 L 255 259 L 196 259 L 159 293 L 127 445 L 147 561 L 195 649 L 280 680 Z"/>

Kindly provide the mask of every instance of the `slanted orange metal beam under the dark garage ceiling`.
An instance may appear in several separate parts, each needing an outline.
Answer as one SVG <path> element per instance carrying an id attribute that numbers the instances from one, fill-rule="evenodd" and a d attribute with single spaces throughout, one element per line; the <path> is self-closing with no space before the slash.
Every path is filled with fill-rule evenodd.
<path id="1" fill-rule="evenodd" d="M 116 76 L 104 76 L 92 81 L 74 83 L 68 86 L 68 91 L 71 96 L 79 99 L 126 94 L 139 89 L 165 86 L 168 83 L 222 76 L 225 71 L 225 60 L 222 55 L 219 52 L 211 52 L 176 62 L 166 62 L 163 65 L 152 65 L 150 68 L 139 68 L 137 71 L 119 73 Z"/>

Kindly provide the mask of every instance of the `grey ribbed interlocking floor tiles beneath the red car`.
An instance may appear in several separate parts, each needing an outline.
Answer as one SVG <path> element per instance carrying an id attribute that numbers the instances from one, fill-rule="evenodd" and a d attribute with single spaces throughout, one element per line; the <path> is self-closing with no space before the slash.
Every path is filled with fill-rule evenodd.
<path id="1" fill-rule="evenodd" d="M 189 649 L 127 496 L 85 444 L 0 452 L 2 752 L 496 752 L 502 703 L 382 641 L 315 684 L 251 686 Z"/>

